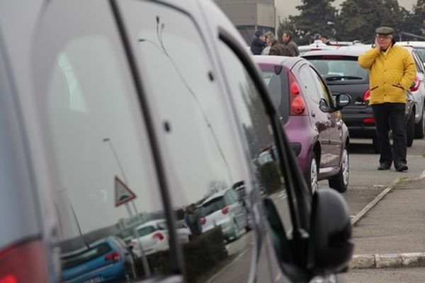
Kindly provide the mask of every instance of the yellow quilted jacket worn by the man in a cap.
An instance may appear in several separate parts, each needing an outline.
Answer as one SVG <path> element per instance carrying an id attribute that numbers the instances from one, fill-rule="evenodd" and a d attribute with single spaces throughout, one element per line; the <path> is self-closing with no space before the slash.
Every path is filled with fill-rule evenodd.
<path id="1" fill-rule="evenodd" d="M 416 66 L 406 48 L 392 45 L 387 52 L 373 48 L 358 57 L 358 64 L 369 69 L 369 104 L 406 103 L 406 91 L 416 76 Z"/>

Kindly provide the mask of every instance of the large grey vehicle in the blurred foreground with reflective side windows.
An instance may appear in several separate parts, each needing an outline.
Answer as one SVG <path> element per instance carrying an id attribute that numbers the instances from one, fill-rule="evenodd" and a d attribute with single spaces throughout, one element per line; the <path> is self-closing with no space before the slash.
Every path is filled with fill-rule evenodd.
<path id="1" fill-rule="evenodd" d="M 123 280 L 347 270 L 347 204 L 302 180 L 259 69 L 213 1 L 0 1 L 0 27 L 0 282 L 61 282 L 85 248 L 113 265 L 118 254 L 94 243 L 137 238 L 157 216 L 169 250 L 136 257 Z M 276 149 L 269 176 L 255 165 L 264 148 Z M 182 245 L 182 207 L 242 181 L 253 229 L 232 245 L 218 227 Z"/>

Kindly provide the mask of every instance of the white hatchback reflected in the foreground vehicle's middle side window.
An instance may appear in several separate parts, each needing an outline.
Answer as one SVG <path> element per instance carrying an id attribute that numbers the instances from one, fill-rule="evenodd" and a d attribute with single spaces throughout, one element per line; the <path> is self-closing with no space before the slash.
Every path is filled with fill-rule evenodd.
<path id="1" fill-rule="evenodd" d="M 200 224 L 205 233 L 215 226 L 221 226 L 227 241 L 232 241 L 248 227 L 248 216 L 243 202 L 233 188 L 216 192 L 200 204 Z"/>

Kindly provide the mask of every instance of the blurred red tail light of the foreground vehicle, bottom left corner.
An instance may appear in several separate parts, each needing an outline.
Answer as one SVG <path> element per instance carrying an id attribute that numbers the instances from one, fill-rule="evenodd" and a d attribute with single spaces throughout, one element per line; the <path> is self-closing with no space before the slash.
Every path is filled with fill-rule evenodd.
<path id="1" fill-rule="evenodd" d="M 45 250 L 33 241 L 0 250 L 0 283 L 48 282 Z"/>

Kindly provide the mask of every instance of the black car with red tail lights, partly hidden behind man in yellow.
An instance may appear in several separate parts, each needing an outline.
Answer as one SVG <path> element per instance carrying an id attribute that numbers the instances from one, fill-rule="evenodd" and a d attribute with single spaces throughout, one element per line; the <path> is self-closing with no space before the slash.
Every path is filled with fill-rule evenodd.
<path id="1" fill-rule="evenodd" d="M 368 71 L 360 67 L 358 56 L 370 48 L 370 45 L 353 45 L 340 47 L 338 50 L 307 52 L 303 55 L 327 81 L 331 92 L 336 94 L 346 91 L 351 103 L 341 110 L 344 122 L 352 138 L 369 138 L 373 141 L 375 153 L 379 152 L 376 137 L 375 120 L 370 98 Z M 406 123 L 407 146 L 412 146 L 414 139 L 414 107 L 412 93 L 407 91 Z"/>

